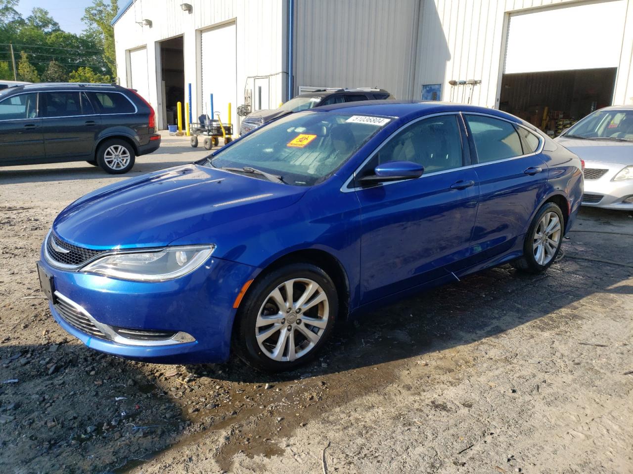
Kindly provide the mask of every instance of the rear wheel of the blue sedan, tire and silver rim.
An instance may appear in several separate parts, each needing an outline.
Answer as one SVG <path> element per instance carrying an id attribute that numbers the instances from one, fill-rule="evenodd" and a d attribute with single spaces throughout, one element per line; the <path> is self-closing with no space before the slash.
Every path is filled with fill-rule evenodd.
<path id="1" fill-rule="evenodd" d="M 556 260 L 563 243 L 563 212 L 548 202 L 537 212 L 523 243 L 523 257 L 512 262 L 513 267 L 529 273 L 541 273 Z"/>

